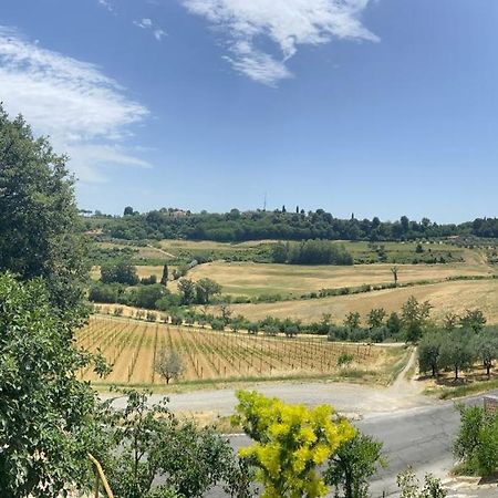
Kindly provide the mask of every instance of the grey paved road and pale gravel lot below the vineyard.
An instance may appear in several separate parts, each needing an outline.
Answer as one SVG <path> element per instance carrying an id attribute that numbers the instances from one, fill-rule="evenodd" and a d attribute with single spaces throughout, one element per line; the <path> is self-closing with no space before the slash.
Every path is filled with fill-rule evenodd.
<path id="1" fill-rule="evenodd" d="M 356 384 L 280 383 L 260 384 L 255 388 L 268 396 L 278 396 L 289 403 L 304 403 L 313 406 L 322 403 L 333 405 L 339 412 L 350 415 L 355 425 L 365 434 L 384 444 L 388 467 L 373 480 L 373 497 L 396 492 L 396 475 L 412 466 L 418 475 L 433 473 L 444 478 L 453 466 L 452 442 L 458 429 L 459 416 L 453 402 L 438 402 L 418 393 L 416 383 L 405 377 L 411 362 L 396 382 L 387 388 L 369 387 Z M 152 403 L 162 396 L 154 395 Z M 467 403 L 478 403 L 480 397 Z M 210 416 L 230 415 L 237 403 L 232 390 L 200 391 L 174 394 L 170 408 L 186 414 L 208 413 Z M 117 401 L 116 405 L 122 405 Z M 246 436 L 230 438 L 237 449 L 247 446 Z M 454 486 L 455 487 L 455 486 Z M 453 497 L 496 497 L 492 489 L 458 489 Z M 210 498 L 225 497 L 215 490 Z"/>

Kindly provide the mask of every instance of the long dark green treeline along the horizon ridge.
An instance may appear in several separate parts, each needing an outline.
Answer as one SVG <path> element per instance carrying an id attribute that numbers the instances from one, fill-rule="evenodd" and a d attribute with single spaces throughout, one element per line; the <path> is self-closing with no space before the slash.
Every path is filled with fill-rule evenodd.
<path id="1" fill-rule="evenodd" d="M 102 230 L 106 237 L 127 240 L 190 239 L 236 242 L 245 240 L 415 240 L 439 237 L 498 238 L 497 218 L 478 218 L 460 225 L 439 225 L 423 218 L 409 220 L 402 216 L 396 221 L 372 219 L 340 219 L 323 209 L 304 212 L 295 209 L 288 212 L 284 207 L 274 211 L 239 211 L 225 214 L 201 211 L 194 214 L 163 208 L 144 214 L 127 207 L 122 217 L 105 216 L 96 211 L 85 218 L 89 230 Z"/>

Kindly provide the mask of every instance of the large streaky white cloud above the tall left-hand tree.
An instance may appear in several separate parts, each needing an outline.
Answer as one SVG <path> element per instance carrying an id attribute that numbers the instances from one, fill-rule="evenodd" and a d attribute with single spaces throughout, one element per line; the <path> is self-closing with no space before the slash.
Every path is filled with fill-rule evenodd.
<path id="1" fill-rule="evenodd" d="M 108 164 L 148 166 L 118 145 L 148 111 L 95 65 L 64 56 L 0 27 L 0 101 L 50 135 L 83 181 L 103 179 Z M 117 145 L 116 145 L 117 144 Z"/>

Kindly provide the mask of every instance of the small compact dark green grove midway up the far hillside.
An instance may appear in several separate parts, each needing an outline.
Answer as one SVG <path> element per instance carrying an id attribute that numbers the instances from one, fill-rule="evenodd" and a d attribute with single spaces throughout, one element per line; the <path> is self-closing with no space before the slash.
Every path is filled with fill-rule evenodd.
<path id="1" fill-rule="evenodd" d="M 353 257 L 345 250 L 344 246 L 319 239 L 276 243 L 272 247 L 271 257 L 276 263 L 353 264 Z"/>

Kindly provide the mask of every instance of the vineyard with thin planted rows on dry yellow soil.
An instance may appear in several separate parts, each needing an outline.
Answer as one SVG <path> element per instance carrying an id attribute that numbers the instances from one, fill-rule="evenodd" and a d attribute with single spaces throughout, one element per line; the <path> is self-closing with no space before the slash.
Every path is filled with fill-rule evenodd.
<path id="1" fill-rule="evenodd" d="M 136 320 L 92 317 L 76 342 L 103 354 L 113 365 L 105 382 L 162 384 L 155 373 L 162 349 L 181 357 L 181 381 L 326 374 L 336 371 L 338 359 L 347 353 L 354 363 L 375 363 L 378 350 L 363 344 L 339 344 L 321 338 L 270 338 L 196 328 L 176 328 Z M 86 380 L 97 381 L 89 369 Z"/>

